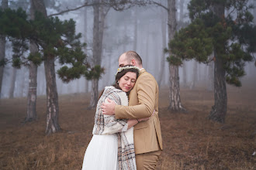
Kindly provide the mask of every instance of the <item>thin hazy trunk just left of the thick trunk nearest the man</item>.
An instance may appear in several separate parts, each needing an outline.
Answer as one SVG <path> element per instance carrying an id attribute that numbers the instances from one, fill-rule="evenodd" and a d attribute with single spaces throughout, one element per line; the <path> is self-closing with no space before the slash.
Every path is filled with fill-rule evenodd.
<path id="1" fill-rule="evenodd" d="M 162 34 L 162 49 L 164 49 L 166 47 L 166 19 L 164 17 L 164 12 L 162 12 L 162 17 L 161 17 L 161 34 Z M 159 75 L 157 80 L 159 89 L 161 88 L 161 81 L 164 77 L 165 62 L 166 62 L 166 58 L 163 53 L 161 58 L 161 66 L 160 66 L 161 69 L 159 70 Z"/>

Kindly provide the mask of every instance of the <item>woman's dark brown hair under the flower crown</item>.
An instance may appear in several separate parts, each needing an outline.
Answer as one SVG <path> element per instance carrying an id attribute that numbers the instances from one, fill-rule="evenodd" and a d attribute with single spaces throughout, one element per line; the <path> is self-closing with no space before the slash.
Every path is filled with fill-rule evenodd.
<path id="1" fill-rule="evenodd" d="M 126 66 L 133 66 L 131 64 L 127 64 L 125 66 L 122 67 L 126 67 Z M 116 73 L 116 80 L 115 83 L 112 84 L 113 87 L 116 87 L 116 89 L 121 90 L 121 87 L 119 87 L 119 83 L 117 83 L 122 76 L 124 76 L 126 73 L 128 72 L 133 72 L 136 73 L 136 78 L 138 78 L 140 71 L 136 68 L 129 68 L 129 69 L 125 69 L 125 70 L 121 70 L 120 72 Z M 104 89 L 102 90 L 102 92 L 99 94 L 99 98 L 102 96 L 102 93 L 104 92 Z M 129 94 L 130 92 L 127 92 L 127 94 Z"/>

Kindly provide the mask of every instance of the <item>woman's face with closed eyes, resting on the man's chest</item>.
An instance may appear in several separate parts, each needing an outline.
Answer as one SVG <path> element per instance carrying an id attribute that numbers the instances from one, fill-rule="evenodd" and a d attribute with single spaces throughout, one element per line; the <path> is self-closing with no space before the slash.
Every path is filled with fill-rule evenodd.
<path id="1" fill-rule="evenodd" d="M 134 84 L 137 80 L 136 73 L 133 72 L 127 72 L 125 75 L 123 75 L 119 80 L 119 87 L 124 91 L 128 92 L 132 90 L 134 87 Z"/>

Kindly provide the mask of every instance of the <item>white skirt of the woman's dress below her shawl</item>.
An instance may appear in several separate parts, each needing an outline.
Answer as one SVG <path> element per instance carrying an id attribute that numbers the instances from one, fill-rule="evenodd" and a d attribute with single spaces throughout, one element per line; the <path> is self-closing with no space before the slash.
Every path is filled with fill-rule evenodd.
<path id="1" fill-rule="evenodd" d="M 82 170 L 117 170 L 117 134 L 94 134 L 88 148 Z"/>

